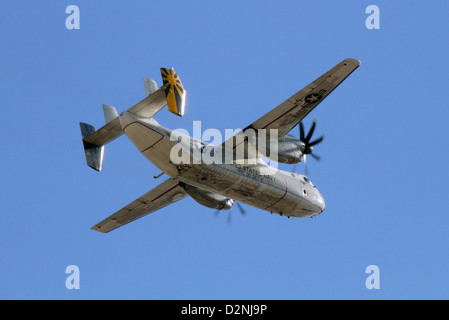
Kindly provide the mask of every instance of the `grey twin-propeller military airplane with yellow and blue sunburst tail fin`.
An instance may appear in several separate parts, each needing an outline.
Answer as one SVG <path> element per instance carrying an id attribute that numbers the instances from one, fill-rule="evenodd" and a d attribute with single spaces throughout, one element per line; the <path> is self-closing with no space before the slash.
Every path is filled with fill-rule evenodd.
<path id="1" fill-rule="evenodd" d="M 315 122 L 306 135 L 301 121 L 359 66 L 360 61 L 356 59 L 343 60 L 218 145 L 163 127 L 154 119 L 165 106 L 180 117 L 185 113 L 186 90 L 173 69 L 161 68 L 162 87 L 158 87 L 154 80 L 144 78 L 147 96 L 142 101 L 120 114 L 114 107 L 103 105 L 106 124 L 98 130 L 80 122 L 86 161 L 89 167 L 101 171 L 105 145 L 126 134 L 162 171 L 154 178 L 163 174 L 169 178 L 91 229 L 108 233 L 187 196 L 215 210 L 230 210 L 240 202 L 288 218 L 314 217 L 322 213 L 325 209 L 323 196 L 310 179 L 273 167 L 263 156 L 287 164 L 305 161 L 306 155 L 312 154 L 313 146 L 323 137 L 311 141 Z M 299 139 L 289 135 L 298 124 Z M 277 139 L 275 151 L 268 150 L 271 147 L 268 143 L 254 148 L 254 140 L 246 133 L 256 132 L 257 136 L 260 130 L 269 130 L 270 142 Z M 237 145 L 243 146 L 243 152 L 236 152 Z M 176 147 L 180 149 L 173 153 Z M 173 154 L 179 155 L 183 151 L 187 152 L 189 161 L 173 161 Z M 201 157 L 206 153 L 219 159 L 224 159 L 225 155 L 232 157 L 231 161 L 221 163 L 206 162 Z"/>

